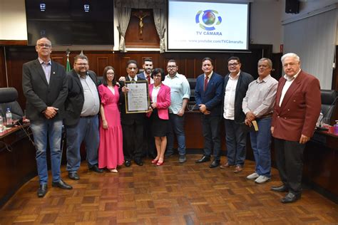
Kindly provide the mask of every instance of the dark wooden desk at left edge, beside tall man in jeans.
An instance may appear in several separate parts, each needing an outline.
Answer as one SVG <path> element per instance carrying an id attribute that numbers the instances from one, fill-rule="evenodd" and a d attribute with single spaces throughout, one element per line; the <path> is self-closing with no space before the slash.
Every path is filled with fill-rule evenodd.
<path id="1" fill-rule="evenodd" d="M 35 148 L 22 129 L 29 125 L 0 132 L 0 206 L 37 173 Z"/>

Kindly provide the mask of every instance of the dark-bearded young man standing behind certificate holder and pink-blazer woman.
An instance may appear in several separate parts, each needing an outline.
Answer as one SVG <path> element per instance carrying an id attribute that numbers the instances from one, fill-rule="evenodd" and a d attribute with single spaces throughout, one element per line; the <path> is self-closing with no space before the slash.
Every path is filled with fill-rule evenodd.
<path id="1" fill-rule="evenodd" d="M 151 58 L 145 58 L 143 61 L 143 72 L 138 73 L 140 78 L 144 78 L 148 81 L 148 84 L 154 83 L 153 78 L 151 78 L 151 72 L 153 71 L 153 60 Z M 144 126 L 144 141 L 143 141 L 143 155 L 155 159 L 157 153 L 155 149 L 155 140 L 152 135 L 151 126 L 150 126 L 150 117 L 145 117 L 145 126 Z"/>

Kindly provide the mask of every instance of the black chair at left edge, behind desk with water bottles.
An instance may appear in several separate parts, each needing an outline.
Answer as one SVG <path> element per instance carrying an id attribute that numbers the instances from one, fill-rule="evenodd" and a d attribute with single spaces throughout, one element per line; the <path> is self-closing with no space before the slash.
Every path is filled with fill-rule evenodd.
<path id="1" fill-rule="evenodd" d="M 0 88 L 0 115 L 6 117 L 7 108 L 11 110 L 13 120 L 19 120 L 24 116 L 18 99 L 18 91 L 15 88 Z"/>

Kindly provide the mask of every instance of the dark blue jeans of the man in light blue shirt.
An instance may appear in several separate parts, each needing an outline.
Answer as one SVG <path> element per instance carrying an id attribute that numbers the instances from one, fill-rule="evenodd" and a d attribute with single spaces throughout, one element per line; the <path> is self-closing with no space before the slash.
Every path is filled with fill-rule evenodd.
<path id="1" fill-rule="evenodd" d="M 174 132 L 178 140 L 178 154 L 185 155 L 184 117 L 169 113 L 169 131 L 167 134 L 167 154 L 173 154 Z"/>

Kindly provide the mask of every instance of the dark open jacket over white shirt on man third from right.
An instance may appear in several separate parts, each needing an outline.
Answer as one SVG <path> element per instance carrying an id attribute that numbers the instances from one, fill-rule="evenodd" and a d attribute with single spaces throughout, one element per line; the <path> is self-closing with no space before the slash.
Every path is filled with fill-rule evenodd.
<path id="1" fill-rule="evenodd" d="M 223 98 L 222 98 L 222 114 L 224 112 L 224 98 L 225 98 L 225 88 L 227 88 L 227 81 L 229 81 L 229 75 L 228 73 L 224 78 L 224 88 L 223 88 Z M 245 95 L 247 93 L 247 88 L 249 87 L 249 84 L 254 80 L 252 75 L 249 73 L 245 73 L 242 70 L 240 70 L 240 77 L 237 81 L 237 86 L 235 90 L 235 122 L 244 122 L 245 120 L 245 114 L 242 110 L 242 103 L 243 98 L 245 98 Z"/>

